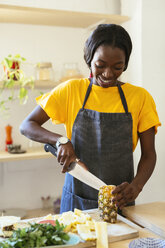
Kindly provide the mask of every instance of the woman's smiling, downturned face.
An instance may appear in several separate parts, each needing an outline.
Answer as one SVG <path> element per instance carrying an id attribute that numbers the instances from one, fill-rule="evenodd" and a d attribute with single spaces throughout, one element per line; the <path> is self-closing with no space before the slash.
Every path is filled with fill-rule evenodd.
<path id="1" fill-rule="evenodd" d="M 103 88 L 116 86 L 118 77 L 125 67 L 123 50 L 110 45 L 101 45 L 91 61 L 93 83 Z"/>

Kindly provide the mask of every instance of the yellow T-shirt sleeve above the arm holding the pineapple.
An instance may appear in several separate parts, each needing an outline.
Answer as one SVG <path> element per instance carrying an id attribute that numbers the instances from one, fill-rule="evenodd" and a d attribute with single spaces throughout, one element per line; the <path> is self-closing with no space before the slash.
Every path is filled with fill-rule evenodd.
<path id="1" fill-rule="evenodd" d="M 138 132 L 144 132 L 151 127 L 155 127 L 157 133 L 158 126 L 161 126 L 159 117 L 156 111 L 156 105 L 152 96 L 145 90 L 142 100 L 142 108 L 139 114 Z"/>

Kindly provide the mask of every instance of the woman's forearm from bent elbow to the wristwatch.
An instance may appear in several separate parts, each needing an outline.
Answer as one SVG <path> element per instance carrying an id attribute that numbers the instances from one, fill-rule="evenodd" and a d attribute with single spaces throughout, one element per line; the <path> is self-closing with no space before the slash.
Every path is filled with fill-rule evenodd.
<path id="1" fill-rule="evenodd" d="M 61 136 L 46 130 L 34 121 L 23 122 L 20 126 L 20 132 L 31 140 L 49 144 L 55 144 L 57 139 Z"/>

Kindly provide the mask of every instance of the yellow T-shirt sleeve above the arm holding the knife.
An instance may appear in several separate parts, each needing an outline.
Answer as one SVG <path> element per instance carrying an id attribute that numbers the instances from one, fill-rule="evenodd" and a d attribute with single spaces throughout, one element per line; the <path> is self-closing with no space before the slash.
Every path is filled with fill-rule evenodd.
<path id="1" fill-rule="evenodd" d="M 52 91 L 36 98 L 37 104 L 47 113 L 55 124 L 65 123 L 67 119 L 68 83 L 61 83 Z"/>

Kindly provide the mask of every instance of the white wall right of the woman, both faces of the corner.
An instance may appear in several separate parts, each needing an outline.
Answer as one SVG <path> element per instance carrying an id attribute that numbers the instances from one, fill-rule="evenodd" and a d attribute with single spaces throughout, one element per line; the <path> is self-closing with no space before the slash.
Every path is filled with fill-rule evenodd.
<path id="1" fill-rule="evenodd" d="M 122 0 L 121 13 L 132 16 L 124 24 L 133 40 L 133 56 L 126 78 L 135 85 L 146 88 L 153 96 L 162 126 L 156 135 L 156 169 L 137 198 L 137 203 L 165 200 L 164 191 L 164 50 L 165 23 L 164 0 Z M 134 153 L 135 168 L 140 156 L 139 144 Z"/>

